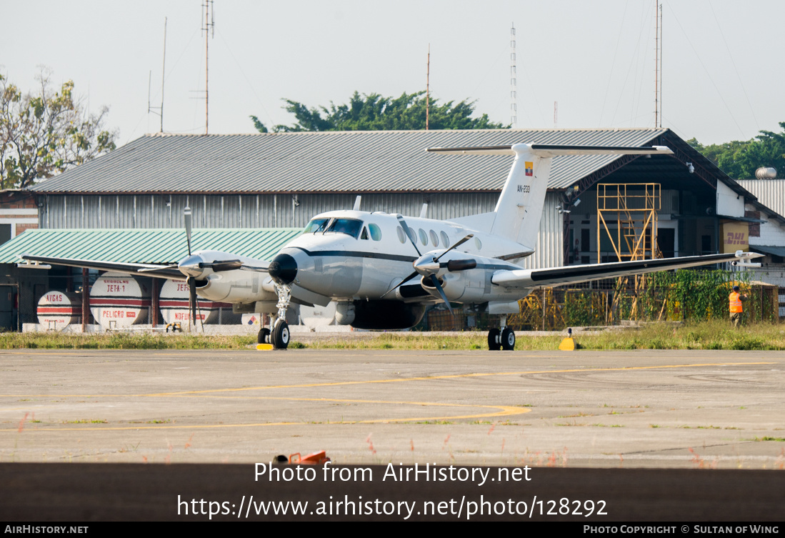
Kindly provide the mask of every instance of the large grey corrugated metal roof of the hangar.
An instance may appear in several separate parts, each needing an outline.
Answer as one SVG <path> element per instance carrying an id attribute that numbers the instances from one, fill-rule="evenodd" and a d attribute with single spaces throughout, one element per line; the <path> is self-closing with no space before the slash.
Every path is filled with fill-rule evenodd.
<path id="1" fill-rule="evenodd" d="M 649 145 L 667 129 L 335 131 L 148 135 L 32 187 L 35 192 L 462 192 L 500 190 L 509 156 L 436 156 L 429 147 Z M 556 157 L 566 188 L 619 156 Z"/>

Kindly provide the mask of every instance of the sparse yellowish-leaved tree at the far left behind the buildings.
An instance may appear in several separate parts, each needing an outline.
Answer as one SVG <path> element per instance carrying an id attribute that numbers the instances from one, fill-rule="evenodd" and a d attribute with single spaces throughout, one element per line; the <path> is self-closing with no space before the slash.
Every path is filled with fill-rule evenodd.
<path id="1" fill-rule="evenodd" d="M 22 93 L 0 75 L 0 188 L 26 188 L 115 149 L 104 130 L 109 109 L 85 110 L 69 80 L 54 90 L 46 71 L 35 93 Z"/>

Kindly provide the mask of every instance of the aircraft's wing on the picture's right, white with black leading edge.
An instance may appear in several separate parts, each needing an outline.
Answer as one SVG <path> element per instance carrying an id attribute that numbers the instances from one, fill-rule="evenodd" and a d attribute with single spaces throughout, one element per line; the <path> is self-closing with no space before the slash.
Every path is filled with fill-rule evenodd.
<path id="1" fill-rule="evenodd" d="M 683 269 L 722 262 L 747 263 L 763 254 L 736 252 L 733 254 L 710 254 L 708 256 L 685 256 L 682 258 L 661 258 L 654 260 L 635 260 L 633 262 L 595 263 L 590 265 L 569 265 L 552 269 L 513 269 L 501 270 L 491 278 L 493 284 L 502 287 L 546 287 L 561 284 L 578 284 L 589 280 L 613 278 L 616 276 L 655 273 L 670 269 Z"/>

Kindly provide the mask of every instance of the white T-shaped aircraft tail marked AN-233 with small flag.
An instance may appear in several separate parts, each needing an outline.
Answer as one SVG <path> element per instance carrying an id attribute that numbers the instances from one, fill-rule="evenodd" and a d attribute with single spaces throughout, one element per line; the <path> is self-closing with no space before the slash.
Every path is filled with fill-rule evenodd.
<path id="1" fill-rule="evenodd" d="M 509 155 L 514 156 L 507 181 L 494 210 L 490 232 L 507 237 L 534 249 L 539 232 L 542 208 L 555 156 L 579 155 L 665 155 L 672 153 L 665 146 L 650 148 L 619 146 L 576 146 L 550 144 L 515 144 L 470 148 L 428 148 L 426 151 L 447 155 Z"/>

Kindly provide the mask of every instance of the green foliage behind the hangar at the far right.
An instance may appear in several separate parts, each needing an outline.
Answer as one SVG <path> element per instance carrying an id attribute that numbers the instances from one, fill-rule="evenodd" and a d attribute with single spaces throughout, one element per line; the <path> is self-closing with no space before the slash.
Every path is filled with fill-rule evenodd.
<path id="1" fill-rule="evenodd" d="M 780 173 L 785 171 L 785 122 L 780 122 L 780 127 L 782 133 L 761 130 L 761 134 L 749 141 L 704 146 L 692 138 L 687 143 L 731 178 L 754 178 L 759 167 L 774 167 Z"/>

